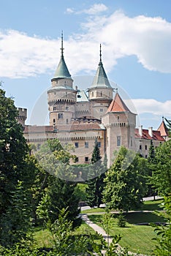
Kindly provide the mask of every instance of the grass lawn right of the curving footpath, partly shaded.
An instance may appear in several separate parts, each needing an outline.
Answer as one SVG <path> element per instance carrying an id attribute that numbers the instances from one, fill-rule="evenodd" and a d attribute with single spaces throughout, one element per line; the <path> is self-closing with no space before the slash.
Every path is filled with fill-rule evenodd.
<path id="1" fill-rule="evenodd" d="M 88 216 L 92 222 L 102 226 L 102 214 Z M 126 227 L 117 226 L 116 214 L 113 214 L 113 218 L 109 224 L 110 236 L 120 234 L 122 236 L 119 244 L 123 247 L 128 247 L 131 252 L 139 252 L 144 255 L 151 255 L 151 250 L 155 246 L 155 241 L 152 240 L 156 236 L 154 228 L 149 225 L 134 225 L 140 222 L 163 222 L 163 219 L 159 219 L 152 213 L 130 213 L 126 214 Z"/>

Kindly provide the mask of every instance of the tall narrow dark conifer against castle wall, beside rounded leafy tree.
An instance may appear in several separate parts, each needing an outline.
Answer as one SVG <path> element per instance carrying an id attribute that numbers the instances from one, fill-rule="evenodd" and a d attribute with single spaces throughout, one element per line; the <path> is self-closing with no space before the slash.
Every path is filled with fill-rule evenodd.
<path id="1" fill-rule="evenodd" d="M 104 166 L 102 165 L 97 140 L 94 142 L 94 151 L 91 157 L 91 178 L 86 182 L 87 203 L 88 206 L 99 207 L 102 203 L 102 191 L 104 188 Z"/>

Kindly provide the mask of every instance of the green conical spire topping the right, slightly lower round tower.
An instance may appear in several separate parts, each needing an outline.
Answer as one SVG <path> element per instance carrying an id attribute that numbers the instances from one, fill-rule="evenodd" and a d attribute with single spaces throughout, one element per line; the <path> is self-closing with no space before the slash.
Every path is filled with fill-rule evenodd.
<path id="1" fill-rule="evenodd" d="M 94 77 L 93 83 L 91 84 L 91 88 L 94 87 L 107 87 L 107 88 L 111 88 L 110 86 L 110 82 L 107 78 L 106 72 L 104 71 L 104 67 L 102 64 L 102 48 L 101 48 L 101 44 L 100 44 L 100 50 L 99 50 L 99 65 L 98 68 L 96 70 L 96 75 Z"/>

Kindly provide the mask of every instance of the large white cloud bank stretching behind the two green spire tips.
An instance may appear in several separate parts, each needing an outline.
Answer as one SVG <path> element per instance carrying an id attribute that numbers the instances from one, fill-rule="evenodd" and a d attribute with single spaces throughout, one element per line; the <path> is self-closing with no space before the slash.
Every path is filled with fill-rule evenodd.
<path id="1" fill-rule="evenodd" d="M 94 4 L 86 12 L 99 14 L 106 8 Z M 129 18 L 117 11 L 88 17 L 81 26 L 82 34 L 64 40 L 64 56 L 72 75 L 82 70 L 90 74 L 96 69 L 100 42 L 107 72 L 117 59 L 132 55 L 146 69 L 171 72 L 171 23 L 166 20 L 143 15 Z M 60 40 L 29 37 L 20 31 L 0 31 L 0 76 L 21 78 L 56 69 L 60 44 Z"/>

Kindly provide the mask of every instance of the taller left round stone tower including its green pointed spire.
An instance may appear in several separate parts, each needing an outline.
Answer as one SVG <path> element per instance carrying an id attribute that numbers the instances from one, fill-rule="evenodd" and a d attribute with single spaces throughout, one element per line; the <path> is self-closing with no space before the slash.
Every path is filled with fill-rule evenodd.
<path id="1" fill-rule="evenodd" d="M 54 77 L 51 79 L 51 89 L 47 91 L 50 125 L 71 124 L 75 117 L 77 91 L 73 89 L 73 80 L 64 61 L 63 33 L 61 34 L 61 59 Z"/>

